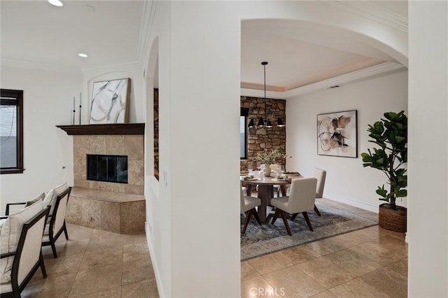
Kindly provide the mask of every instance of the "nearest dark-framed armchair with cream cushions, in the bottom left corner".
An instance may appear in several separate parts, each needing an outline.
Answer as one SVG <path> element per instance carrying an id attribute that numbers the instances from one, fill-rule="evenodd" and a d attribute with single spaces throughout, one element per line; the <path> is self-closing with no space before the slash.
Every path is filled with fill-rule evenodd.
<path id="1" fill-rule="evenodd" d="M 20 292 L 43 263 L 41 242 L 50 207 L 42 201 L 10 215 L 1 225 L 1 297 L 20 297 Z"/>

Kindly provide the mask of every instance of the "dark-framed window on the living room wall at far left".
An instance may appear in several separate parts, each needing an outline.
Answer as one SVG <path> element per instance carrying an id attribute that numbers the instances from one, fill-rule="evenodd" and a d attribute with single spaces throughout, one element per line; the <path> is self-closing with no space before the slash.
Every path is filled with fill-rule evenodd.
<path id="1" fill-rule="evenodd" d="M 0 173 L 23 173 L 23 91 L 0 92 Z"/>

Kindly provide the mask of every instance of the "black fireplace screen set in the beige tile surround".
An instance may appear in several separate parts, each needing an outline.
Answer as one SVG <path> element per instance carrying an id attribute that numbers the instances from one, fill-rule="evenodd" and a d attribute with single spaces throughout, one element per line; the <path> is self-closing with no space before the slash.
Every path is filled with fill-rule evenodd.
<path id="1" fill-rule="evenodd" d="M 127 156 L 87 154 L 87 180 L 127 183 Z"/>

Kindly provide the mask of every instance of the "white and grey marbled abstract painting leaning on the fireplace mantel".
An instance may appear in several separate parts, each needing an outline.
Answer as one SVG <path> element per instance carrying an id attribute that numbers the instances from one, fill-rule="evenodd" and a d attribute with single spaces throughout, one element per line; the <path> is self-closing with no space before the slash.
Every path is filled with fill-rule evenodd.
<path id="1" fill-rule="evenodd" d="M 90 124 L 127 123 L 131 79 L 93 83 Z"/>

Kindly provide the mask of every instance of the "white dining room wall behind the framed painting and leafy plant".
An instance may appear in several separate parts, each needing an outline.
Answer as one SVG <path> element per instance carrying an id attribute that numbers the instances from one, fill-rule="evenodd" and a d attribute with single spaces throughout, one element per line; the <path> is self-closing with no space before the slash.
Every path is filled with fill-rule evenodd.
<path id="1" fill-rule="evenodd" d="M 358 157 L 332 157 L 317 155 L 316 115 L 338 111 L 358 111 Z M 304 94 L 286 101 L 286 153 L 292 156 L 286 167 L 304 175 L 314 167 L 325 169 L 324 197 L 378 212 L 379 201 L 375 193 L 378 185 L 386 184 L 381 171 L 363 168 L 360 152 L 373 148 L 367 143 L 367 125 L 372 125 L 389 111 L 407 111 L 407 71 L 393 73 L 358 83 L 342 85 Z M 406 199 L 397 200 L 406 206 Z"/>

